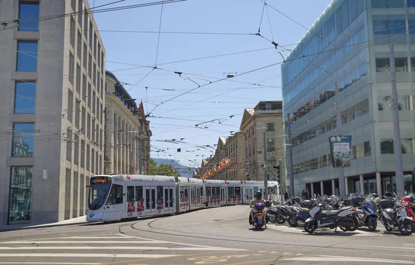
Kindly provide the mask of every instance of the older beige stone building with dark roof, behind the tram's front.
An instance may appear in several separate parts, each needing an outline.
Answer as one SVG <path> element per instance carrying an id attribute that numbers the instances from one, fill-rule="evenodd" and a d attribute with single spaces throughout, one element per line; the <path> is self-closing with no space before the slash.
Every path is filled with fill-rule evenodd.
<path id="1" fill-rule="evenodd" d="M 112 72 L 105 79 L 104 174 L 147 174 L 151 131 L 142 103 L 137 107 Z"/>

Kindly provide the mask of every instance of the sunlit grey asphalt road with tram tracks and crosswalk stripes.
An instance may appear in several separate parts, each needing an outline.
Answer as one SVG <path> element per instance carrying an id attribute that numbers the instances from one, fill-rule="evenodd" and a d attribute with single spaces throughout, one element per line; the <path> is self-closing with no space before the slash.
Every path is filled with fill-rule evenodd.
<path id="1" fill-rule="evenodd" d="M 3 232 L 0 264 L 415 264 L 415 235 L 383 229 L 308 235 L 275 224 L 253 230 L 248 213 L 248 206 L 229 206 Z"/>

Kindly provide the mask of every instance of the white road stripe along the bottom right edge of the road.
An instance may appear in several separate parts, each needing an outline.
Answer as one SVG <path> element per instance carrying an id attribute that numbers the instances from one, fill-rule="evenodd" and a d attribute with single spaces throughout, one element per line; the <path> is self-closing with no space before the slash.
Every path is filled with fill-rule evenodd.
<path id="1" fill-rule="evenodd" d="M 374 263 L 388 263 L 388 264 L 414 264 L 406 260 L 394 259 L 371 259 L 368 257 L 337 257 L 337 256 L 316 256 L 316 257 L 293 257 L 282 259 L 286 261 L 299 260 L 304 262 L 374 262 Z"/>

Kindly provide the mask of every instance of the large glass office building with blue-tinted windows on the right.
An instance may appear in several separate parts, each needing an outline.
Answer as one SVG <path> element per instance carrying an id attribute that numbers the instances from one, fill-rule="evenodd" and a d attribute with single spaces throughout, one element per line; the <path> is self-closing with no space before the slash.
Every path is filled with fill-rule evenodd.
<path id="1" fill-rule="evenodd" d="M 397 106 L 391 102 L 389 44 L 396 57 Z M 396 191 L 393 108 L 399 110 L 405 190 L 414 192 L 414 82 L 414 0 L 332 1 L 282 64 L 295 195 L 303 189 L 338 194 L 328 141 L 339 133 L 338 109 L 342 135 L 352 136 L 346 193 Z"/>

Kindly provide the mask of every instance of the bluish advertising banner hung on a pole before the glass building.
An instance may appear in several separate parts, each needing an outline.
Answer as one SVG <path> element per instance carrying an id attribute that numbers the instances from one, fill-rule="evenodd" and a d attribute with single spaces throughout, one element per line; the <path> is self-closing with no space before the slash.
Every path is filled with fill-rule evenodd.
<path id="1" fill-rule="evenodd" d="M 351 161 L 351 135 L 329 137 L 333 168 L 348 168 Z"/>

